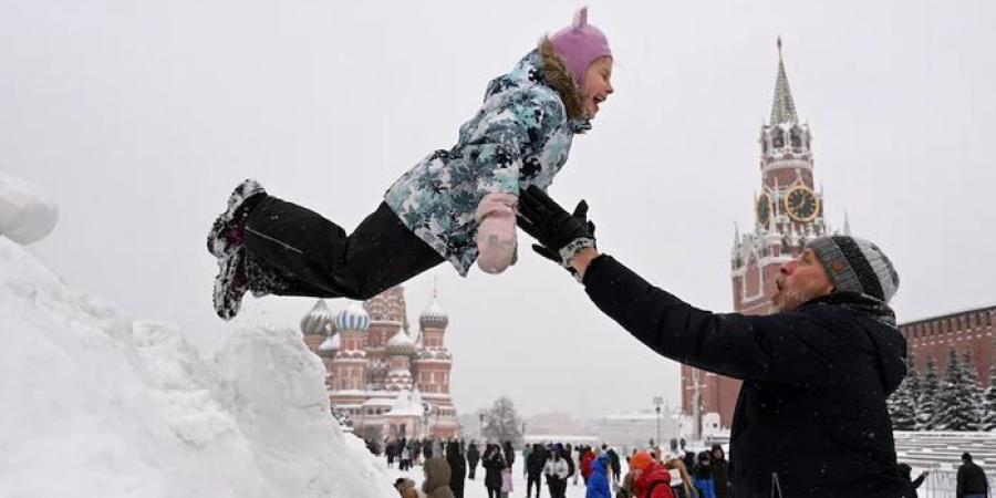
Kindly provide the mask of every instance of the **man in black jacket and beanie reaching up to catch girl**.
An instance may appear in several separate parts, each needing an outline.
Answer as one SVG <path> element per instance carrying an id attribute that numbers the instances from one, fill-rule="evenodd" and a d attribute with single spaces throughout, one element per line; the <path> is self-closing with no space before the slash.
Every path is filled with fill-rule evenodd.
<path id="1" fill-rule="evenodd" d="M 571 215 L 530 187 L 519 226 L 649 347 L 744 381 L 730 430 L 733 496 L 902 494 L 885 397 L 905 376 L 906 343 L 888 307 L 899 277 L 876 246 L 812 239 L 780 268 L 780 312 L 715 314 L 600 255 L 587 209 L 582 201 Z"/>

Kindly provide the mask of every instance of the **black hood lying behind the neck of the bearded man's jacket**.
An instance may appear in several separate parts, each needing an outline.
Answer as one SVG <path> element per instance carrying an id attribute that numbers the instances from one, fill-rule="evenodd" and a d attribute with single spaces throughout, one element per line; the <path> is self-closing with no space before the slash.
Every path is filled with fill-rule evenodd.
<path id="1" fill-rule="evenodd" d="M 906 340 L 895 328 L 895 313 L 884 302 L 858 292 L 832 292 L 800 308 L 839 305 L 871 319 L 858 324 L 875 352 L 882 387 L 892 394 L 906 376 Z"/>

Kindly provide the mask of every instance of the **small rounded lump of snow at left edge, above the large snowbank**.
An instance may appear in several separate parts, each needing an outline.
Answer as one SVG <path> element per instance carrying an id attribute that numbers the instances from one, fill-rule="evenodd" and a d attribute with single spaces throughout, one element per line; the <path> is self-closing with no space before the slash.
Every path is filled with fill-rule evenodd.
<path id="1" fill-rule="evenodd" d="M 55 228 L 59 208 L 41 187 L 0 173 L 0 236 L 37 242 Z"/>

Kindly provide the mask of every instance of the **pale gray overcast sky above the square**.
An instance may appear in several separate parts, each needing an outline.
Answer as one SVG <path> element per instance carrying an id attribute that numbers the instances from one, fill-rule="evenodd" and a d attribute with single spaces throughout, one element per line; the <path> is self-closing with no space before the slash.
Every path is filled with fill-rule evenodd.
<path id="1" fill-rule="evenodd" d="M 136 318 L 179 322 L 206 352 L 232 328 L 297 325 L 312 300 L 214 315 L 204 237 L 234 185 L 256 177 L 352 230 L 578 7 L 360 3 L 0 1 L 0 170 L 61 207 L 34 252 Z M 996 301 L 996 4 L 590 6 L 616 93 L 550 191 L 588 199 L 603 251 L 692 303 L 732 308 L 733 226 L 754 226 L 781 34 L 830 224 L 847 209 L 892 257 L 900 319 Z M 502 393 L 525 414 L 679 403 L 675 363 L 563 270 L 520 256 L 499 277 L 445 266 L 406 286 L 414 319 L 438 278 L 458 409 Z"/>

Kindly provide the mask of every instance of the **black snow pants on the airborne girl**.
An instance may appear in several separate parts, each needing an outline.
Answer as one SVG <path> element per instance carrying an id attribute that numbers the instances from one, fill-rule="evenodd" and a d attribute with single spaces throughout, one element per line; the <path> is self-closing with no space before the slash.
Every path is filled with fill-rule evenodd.
<path id="1" fill-rule="evenodd" d="M 246 220 L 246 250 L 281 273 L 277 295 L 367 300 L 444 261 L 385 203 L 352 234 L 268 196 Z"/>

